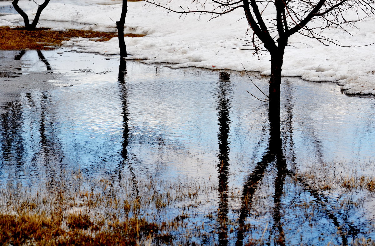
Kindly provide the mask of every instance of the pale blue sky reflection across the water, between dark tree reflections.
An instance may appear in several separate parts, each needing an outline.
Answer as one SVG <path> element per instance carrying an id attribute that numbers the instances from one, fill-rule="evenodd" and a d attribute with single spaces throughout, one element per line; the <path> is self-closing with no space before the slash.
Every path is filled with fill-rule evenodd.
<path id="1" fill-rule="evenodd" d="M 221 91 L 227 95 L 220 97 L 216 71 L 174 70 L 127 61 L 125 83 L 121 84 L 117 59 L 70 52 L 43 54 L 54 72 L 62 72 L 62 83 L 74 86 L 31 91 L 6 109 L 0 124 L 1 180 L 57 175 L 78 167 L 95 176 L 101 168 L 126 172 L 130 165 L 136 176 L 169 179 L 187 174 L 217 182 L 220 98 L 228 98 L 230 119 L 228 186 L 242 190 L 248 173 L 267 150 L 268 108 L 245 91 L 257 94 L 248 79 L 235 72 L 230 75 L 232 88 Z M 281 103 L 284 155 L 291 160 L 288 165 L 303 172 L 317 164 L 348 162 L 353 169 L 362 168 L 363 173 L 371 175 L 369 170 L 374 167 L 356 164 L 374 160 L 375 100 L 347 97 L 333 83 L 288 80 L 282 85 Z M 267 91 L 265 79 L 254 81 Z M 128 136 L 123 132 L 124 110 Z M 9 131 L 9 127 L 16 130 Z M 124 137 L 127 145 L 123 145 Z M 14 141 L 5 144 L 6 138 Z M 124 146 L 129 165 L 120 165 Z M 257 197 L 271 197 L 258 209 L 273 206 L 276 172 L 273 165 L 267 167 Z M 302 203 L 300 194 L 314 200 L 303 187 L 293 188 L 294 181 L 287 180 L 286 190 L 294 192 L 283 197 L 284 203 Z M 229 206 L 238 208 L 240 204 L 229 200 Z M 294 219 L 295 212 L 285 211 L 284 220 L 297 228 L 306 222 Z M 229 211 L 228 216 L 237 215 Z M 252 220 L 258 224 L 267 221 L 247 218 L 248 222 Z M 321 220 L 321 224 L 326 223 Z M 335 231 L 332 227 L 330 224 L 320 230 Z"/>

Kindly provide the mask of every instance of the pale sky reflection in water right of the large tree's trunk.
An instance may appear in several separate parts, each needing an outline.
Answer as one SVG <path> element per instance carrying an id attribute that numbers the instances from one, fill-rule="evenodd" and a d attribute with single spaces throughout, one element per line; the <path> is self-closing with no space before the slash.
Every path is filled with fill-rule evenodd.
<path id="1" fill-rule="evenodd" d="M 374 99 L 347 97 L 331 83 L 305 83 L 288 93 L 300 95 L 291 104 L 304 109 L 293 112 L 294 143 L 303 147 L 296 148 L 300 159 L 350 163 L 374 158 Z"/>

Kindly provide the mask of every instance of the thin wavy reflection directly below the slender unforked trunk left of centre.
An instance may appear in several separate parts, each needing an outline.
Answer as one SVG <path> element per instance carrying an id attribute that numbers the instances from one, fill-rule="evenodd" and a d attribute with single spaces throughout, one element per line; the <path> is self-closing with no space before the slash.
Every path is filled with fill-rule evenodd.
<path id="1" fill-rule="evenodd" d="M 136 176 L 134 173 L 134 168 L 130 164 L 129 154 L 127 151 L 127 147 L 129 145 L 129 110 L 128 110 L 128 105 L 127 105 L 128 104 L 127 102 L 128 89 L 127 89 L 127 84 L 125 80 L 126 76 L 127 76 L 126 61 L 123 59 L 120 59 L 120 67 L 118 70 L 118 85 L 120 86 L 120 92 L 121 92 L 123 133 L 122 133 L 121 161 L 118 164 L 116 171 L 118 173 L 118 179 L 120 181 L 122 178 L 122 171 L 124 169 L 124 166 L 127 165 L 130 173 L 132 174 L 132 182 L 134 185 L 136 195 L 138 196 L 139 191 L 138 191 L 137 184 L 136 184 Z"/>

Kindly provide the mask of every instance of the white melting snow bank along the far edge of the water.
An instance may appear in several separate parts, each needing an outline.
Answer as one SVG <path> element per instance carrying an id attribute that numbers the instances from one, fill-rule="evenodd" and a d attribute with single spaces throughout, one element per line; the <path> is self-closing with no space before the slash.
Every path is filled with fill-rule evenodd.
<path id="1" fill-rule="evenodd" d="M 20 1 L 26 4 L 27 1 Z M 9 1 L 9 4 L 11 2 Z M 121 4 L 96 4 L 98 0 L 73 0 L 50 2 L 41 15 L 40 24 L 51 28 L 77 28 L 94 31 L 115 32 L 112 20 L 119 18 Z M 175 0 L 175 4 L 183 3 Z M 183 3 L 184 4 L 184 3 Z M 26 6 L 26 5 L 24 5 Z M 27 5 L 29 6 L 29 5 Z M 61 14 L 61 9 L 64 13 Z M 35 8 L 27 13 L 32 15 Z M 219 18 L 208 15 L 186 16 L 166 13 L 160 8 L 144 6 L 143 2 L 129 2 L 126 17 L 126 33 L 146 34 L 145 37 L 126 37 L 127 59 L 142 60 L 144 63 L 174 63 L 171 67 L 198 67 L 208 69 L 231 69 L 257 71 L 270 75 L 270 56 L 252 55 L 243 46 L 246 42 L 247 22 L 241 10 L 236 10 Z M 242 19 L 241 19 L 242 18 Z M 0 16 L 0 25 L 20 25 L 21 16 Z M 21 21 L 22 23 L 22 21 Z M 329 29 L 325 33 L 345 45 L 366 45 L 375 40 L 372 30 L 375 21 L 370 19 L 357 23 L 357 29 L 348 36 L 342 30 Z M 336 82 L 347 94 L 375 95 L 375 45 L 365 47 L 324 46 L 317 40 L 310 40 L 299 34 L 290 39 L 284 55 L 282 76 L 300 76 L 315 82 Z M 76 38 L 64 41 L 63 46 L 74 46 L 84 52 L 104 55 L 118 55 L 117 38 L 107 42 L 95 42 Z"/>

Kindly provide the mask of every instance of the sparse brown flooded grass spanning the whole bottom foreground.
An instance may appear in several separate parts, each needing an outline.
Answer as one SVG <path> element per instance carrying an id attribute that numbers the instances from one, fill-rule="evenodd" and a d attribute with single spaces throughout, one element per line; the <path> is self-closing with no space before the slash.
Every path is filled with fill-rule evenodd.
<path id="1" fill-rule="evenodd" d="M 71 171 L 27 185 L 13 179 L 0 183 L 0 245 L 220 245 L 234 244 L 241 232 L 243 245 L 297 245 L 299 237 L 300 245 L 308 245 L 305 231 L 319 230 L 323 220 L 332 227 L 317 234 L 318 245 L 341 245 L 339 237 L 348 245 L 374 246 L 367 234 L 375 225 L 345 219 L 363 206 L 352 191 L 372 195 L 374 178 L 328 178 L 321 175 L 326 168 L 285 177 L 287 198 L 279 203 L 273 175 L 251 197 L 239 188 L 223 192 L 217 182 L 190 177 L 89 178 Z"/>

